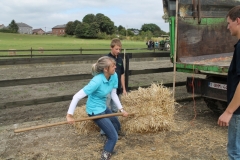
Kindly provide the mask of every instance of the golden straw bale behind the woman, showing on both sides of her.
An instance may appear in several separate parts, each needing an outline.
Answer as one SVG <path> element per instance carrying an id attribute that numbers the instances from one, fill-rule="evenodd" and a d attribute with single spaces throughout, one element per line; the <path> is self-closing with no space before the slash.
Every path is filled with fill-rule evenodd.
<path id="1" fill-rule="evenodd" d="M 121 97 L 121 103 L 134 117 L 119 117 L 122 131 L 128 133 L 153 133 L 171 130 L 174 126 L 175 101 L 172 91 L 162 84 L 152 84 Z M 88 117 L 85 106 L 76 108 L 75 119 Z M 93 121 L 77 122 L 78 133 L 87 134 L 100 129 Z"/>

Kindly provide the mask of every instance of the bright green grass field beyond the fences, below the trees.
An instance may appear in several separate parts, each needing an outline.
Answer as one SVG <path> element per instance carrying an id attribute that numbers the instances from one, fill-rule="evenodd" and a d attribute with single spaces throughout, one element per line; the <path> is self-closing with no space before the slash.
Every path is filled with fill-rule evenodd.
<path id="1" fill-rule="evenodd" d="M 146 48 L 146 42 L 122 40 L 123 49 Z M 54 35 L 27 35 L 27 34 L 11 34 L 0 33 L 0 50 L 48 50 L 48 49 L 110 49 L 110 40 L 97 39 L 79 39 L 75 37 L 62 37 Z M 44 54 L 66 54 L 63 52 L 44 51 L 38 53 Z M 83 54 L 89 54 L 83 53 Z M 93 51 L 91 51 L 93 52 Z M 69 54 L 79 53 L 79 51 L 71 51 Z M 68 54 L 67 53 L 67 54 Z M 105 51 L 106 53 L 106 51 Z M 7 52 L 0 52 L 1 55 L 8 55 Z M 29 54 L 29 52 L 17 52 L 17 54 Z M 37 54 L 37 53 L 34 53 Z"/>

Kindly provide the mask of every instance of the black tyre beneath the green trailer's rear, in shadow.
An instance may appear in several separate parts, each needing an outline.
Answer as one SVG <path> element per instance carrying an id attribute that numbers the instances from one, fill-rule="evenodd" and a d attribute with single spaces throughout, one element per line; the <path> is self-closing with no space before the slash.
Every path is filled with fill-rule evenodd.
<path id="1" fill-rule="evenodd" d="M 215 99 L 204 98 L 207 107 L 211 109 L 216 115 L 220 116 L 227 108 L 227 102 Z"/>

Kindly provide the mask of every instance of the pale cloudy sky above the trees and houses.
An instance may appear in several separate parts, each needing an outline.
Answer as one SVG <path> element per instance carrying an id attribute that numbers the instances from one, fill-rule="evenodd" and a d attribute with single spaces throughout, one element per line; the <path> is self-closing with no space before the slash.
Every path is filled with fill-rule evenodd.
<path id="1" fill-rule="evenodd" d="M 15 20 L 51 31 L 56 25 L 97 13 L 109 17 L 115 26 L 141 29 L 143 24 L 153 23 L 169 31 L 169 24 L 162 19 L 162 0 L 1 0 L 0 24 L 8 26 Z"/>

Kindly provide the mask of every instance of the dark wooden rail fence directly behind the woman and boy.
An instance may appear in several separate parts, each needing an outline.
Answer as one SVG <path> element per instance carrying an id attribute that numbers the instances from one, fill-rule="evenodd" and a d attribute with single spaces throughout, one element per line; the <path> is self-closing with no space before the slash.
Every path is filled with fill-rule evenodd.
<path id="1" fill-rule="evenodd" d="M 159 73 L 159 72 L 172 72 L 173 67 L 167 68 L 156 68 L 156 69 L 144 69 L 144 70 L 130 70 L 129 63 L 131 58 L 149 58 L 149 57 L 169 57 L 169 52 L 155 52 L 155 53 L 125 53 L 120 54 L 122 58 L 125 58 L 125 86 L 126 89 L 135 90 L 138 87 L 149 87 L 149 85 L 145 86 L 132 86 L 129 87 L 128 81 L 129 76 L 138 75 L 138 74 L 151 74 L 151 73 Z M 105 54 L 106 55 L 106 54 Z M 19 59 L 1 59 L 0 65 L 16 65 L 16 64 L 34 64 L 34 63 L 56 63 L 56 62 L 67 62 L 67 61 L 89 61 L 96 60 L 103 55 L 71 55 L 71 56 L 60 56 L 60 57 L 42 57 L 42 58 L 19 58 Z M 83 79 L 91 79 L 92 75 L 90 74 L 76 74 L 76 75 L 62 75 L 62 76 L 50 76 L 50 77 L 40 77 L 40 78 L 28 78 L 28 79 L 14 79 L 14 80 L 1 80 L 0 87 L 10 87 L 10 86 L 18 86 L 18 85 L 30 85 L 30 84 L 42 84 L 42 83 L 53 83 L 53 82 L 62 82 L 62 81 L 73 81 L 73 80 L 83 80 Z M 186 82 L 176 82 L 175 86 L 183 86 Z M 163 84 L 164 86 L 171 87 L 173 83 Z M 47 97 L 40 99 L 32 99 L 32 100 L 22 100 L 15 102 L 6 102 L 0 103 L 0 108 L 9 108 L 16 106 L 24 106 L 24 105 L 36 105 L 36 104 L 44 104 L 51 102 L 60 102 L 67 101 L 72 99 L 72 95 L 63 95 L 56 97 Z"/>

